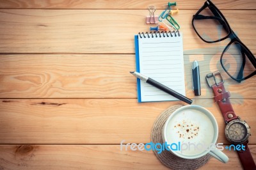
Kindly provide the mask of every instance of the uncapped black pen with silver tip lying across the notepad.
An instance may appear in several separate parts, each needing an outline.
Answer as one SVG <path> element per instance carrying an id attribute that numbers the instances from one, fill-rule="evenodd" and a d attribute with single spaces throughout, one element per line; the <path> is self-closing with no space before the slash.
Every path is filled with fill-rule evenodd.
<path id="1" fill-rule="evenodd" d="M 191 104 L 193 101 L 187 97 L 184 97 L 183 95 L 180 95 L 180 93 L 177 93 L 176 91 L 174 91 L 173 89 L 170 89 L 166 86 L 164 86 L 163 84 L 154 81 L 154 79 L 151 79 L 150 77 L 147 77 L 141 73 L 138 72 L 130 72 L 132 75 L 134 75 L 135 77 L 138 77 L 139 79 L 141 79 L 142 81 L 147 82 L 148 84 L 151 84 L 152 86 L 163 90 L 165 93 L 168 93 L 169 95 L 172 95 L 173 97 L 178 98 L 179 100 L 186 102 L 187 104 Z"/>

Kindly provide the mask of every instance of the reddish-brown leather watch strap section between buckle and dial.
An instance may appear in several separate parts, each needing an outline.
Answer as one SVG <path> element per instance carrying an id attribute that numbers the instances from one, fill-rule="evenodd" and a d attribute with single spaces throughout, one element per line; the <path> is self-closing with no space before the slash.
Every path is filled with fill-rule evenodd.
<path id="1" fill-rule="evenodd" d="M 236 120 L 238 117 L 230 103 L 230 93 L 225 90 L 223 82 L 218 83 L 218 86 L 217 84 L 212 85 L 212 89 L 215 95 L 214 100 L 218 103 L 224 120 L 226 122 Z"/>

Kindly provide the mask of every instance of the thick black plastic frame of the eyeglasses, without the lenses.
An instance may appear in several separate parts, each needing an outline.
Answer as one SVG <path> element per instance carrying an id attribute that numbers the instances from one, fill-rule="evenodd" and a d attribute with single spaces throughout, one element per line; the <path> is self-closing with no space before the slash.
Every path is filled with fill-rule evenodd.
<path id="1" fill-rule="evenodd" d="M 196 19 L 196 16 L 199 16 L 199 13 L 202 12 L 205 8 L 209 8 L 209 10 L 211 10 L 211 12 L 214 14 L 214 17 L 212 17 L 212 19 L 218 19 L 219 21 L 222 21 L 224 20 L 225 22 L 225 27 L 224 29 L 227 31 L 228 35 L 223 37 L 223 38 L 220 38 L 219 40 L 214 40 L 214 41 L 207 41 L 207 40 L 204 40 L 204 38 L 202 38 L 200 36 L 200 34 L 196 31 L 196 28 L 194 26 L 194 20 Z M 213 8 L 212 8 L 213 7 Z M 205 17 L 203 16 L 205 19 L 211 19 L 211 17 Z M 200 8 L 200 10 L 198 10 L 198 12 L 196 12 L 195 15 L 193 15 L 193 19 L 192 19 L 192 26 L 193 26 L 193 29 L 195 30 L 196 34 L 199 36 L 199 38 L 201 38 L 201 40 L 203 40 L 204 42 L 206 43 L 215 43 L 215 42 L 221 42 L 222 40 L 225 40 L 227 38 L 230 38 L 230 42 L 228 43 L 228 45 L 225 47 L 225 49 L 223 50 L 222 54 L 221 54 L 221 57 L 220 57 L 220 63 L 221 63 L 221 66 L 222 68 L 225 70 L 225 72 L 232 78 L 234 79 L 234 81 L 237 81 L 237 82 L 241 82 L 241 81 L 244 81 L 246 79 L 249 79 L 250 77 L 252 77 L 253 75 L 256 75 L 256 70 L 252 73 L 250 73 L 249 75 L 247 75 L 246 77 L 243 77 L 243 78 L 239 78 L 239 76 L 243 76 L 243 68 L 244 68 L 244 65 L 245 65 L 245 58 L 246 56 L 248 57 L 248 59 L 252 62 L 252 65 L 255 67 L 256 69 L 256 58 L 255 56 L 252 54 L 252 52 L 246 47 L 246 45 L 244 45 L 243 42 L 241 42 L 241 40 L 237 37 L 237 35 L 234 33 L 234 31 L 231 29 L 231 27 L 229 26 L 227 20 L 225 19 L 224 15 L 220 12 L 220 10 L 211 2 L 211 1 L 205 1 L 204 3 L 204 6 L 202 6 L 202 8 Z M 227 26 L 227 27 L 226 27 Z M 238 73 L 238 76 L 237 76 L 237 79 L 232 77 L 232 75 L 230 75 L 230 73 L 228 73 L 228 71 L 226 70 L 225 66 L 223 65 L 223 61 L 222 61 L 222 58 L 223 58 L 223 55 L 224 53 L 228 50 L 228 48 L 230 47 L 230 45 L 232 43 L 240 43 L 242 46 L 243 46 L 243 50 L 241 50 L 241 54 L 243 56 L 243 65 L 241 66 L 240 70 L 239 70 L 239 73 Z M 246 56 L 245 56 L 246 54 Z"/>

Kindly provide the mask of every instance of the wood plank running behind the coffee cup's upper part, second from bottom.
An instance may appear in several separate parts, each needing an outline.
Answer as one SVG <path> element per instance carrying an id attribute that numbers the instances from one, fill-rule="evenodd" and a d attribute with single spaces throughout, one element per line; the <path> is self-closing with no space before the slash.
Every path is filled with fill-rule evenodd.
<path id="1" fill-rule="evenodd" d="M 234 110 L 251 127 L 256 144 L 256 100 L 231 100 Z M 134 99 L 1 100 L 0 144 L 118 144 L 148 143 L 157 116 L 182 102 L 142 103 Z M 225 139 L 223 117 L 212 100 L 194 101 L 214 114 L 218 143 Z"/>

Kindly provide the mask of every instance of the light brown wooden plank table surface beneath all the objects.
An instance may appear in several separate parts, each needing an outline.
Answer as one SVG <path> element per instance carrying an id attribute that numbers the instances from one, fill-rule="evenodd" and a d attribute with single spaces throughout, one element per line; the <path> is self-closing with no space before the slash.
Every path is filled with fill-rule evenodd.
<path id="1" fill-rule="evenodd" d="M 0 169 L 166 169 L 152 151 L 120 151 L 120 142 L 148 143 L 154 121 L 182 102 L 138 104 L 134 35 L 148 31 L 145 16 L 168 1 L 0 1 Z M 214 0 L 230 26 L 256 53 L 256 1 Z M 207 73 L 221 69 L 228 40 L 205 43 L 191 26 L 204 1 L 177 0 L 184 35 L 186 95 L 211 111 L 218 143 L 229 144 Z M 191 64 L 200 64 L 202 96 L 191 89 Z M 256 77 L 242 83 L 226 74 L 234 110 L 251 127 L 256 159 Z M 227 164 L 202 169 L 241 169 L 236 151 Z"/>

